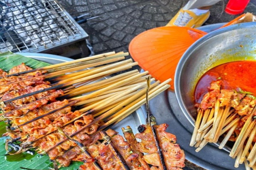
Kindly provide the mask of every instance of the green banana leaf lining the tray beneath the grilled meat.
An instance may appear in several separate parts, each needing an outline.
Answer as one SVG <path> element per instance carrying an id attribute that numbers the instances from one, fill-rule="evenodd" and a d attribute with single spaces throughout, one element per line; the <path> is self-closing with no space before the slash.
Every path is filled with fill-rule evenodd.
<path id="1" fill-rule="evenodd" d="M 11 52 L 0 54 L 0 69 L 4 71 L 9 71 L 13 66 L 21 63 L 25 63 L 33 69 L 50 65 L 48 63 L 40 62 L 22 55 L 13 54 Z M 51 169 L 53 167 L 49 157 L 46 155 L 30 155 L 25 153 L 18 155 L 6 155 L 6 137 L 2 137 L 2 134 L 5 132 L 5 122 L 0 122 L 0 169 L 18 170 L 22 169 L 22 167 L 30 169 Z M 78 169 L 81 164 L 81 162 L 73 162 L 69 167 L 61 167 L 60 170 L 75 170 Z"/>

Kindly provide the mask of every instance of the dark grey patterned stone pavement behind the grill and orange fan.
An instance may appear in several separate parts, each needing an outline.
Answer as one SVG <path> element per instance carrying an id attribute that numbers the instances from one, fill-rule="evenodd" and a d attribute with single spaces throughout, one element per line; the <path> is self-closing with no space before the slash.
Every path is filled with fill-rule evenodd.
<path id="1" fill-rule="evenodd" d="M 130 41 L 139 33 L 164 26 L 184 6 L 187 0 L 59 0 L 71 16 L 91 13 L 100 16 L 81 24 L 89 34 L 95 54 L 128 52 Z M 225 13 L 228 0 L 211 8 L 205 24 L 228 22 L 238 15 Z M 245 12 L 256 12 L 252 0 Z M 153 37 L 154 38 L 154 37 Z"/>

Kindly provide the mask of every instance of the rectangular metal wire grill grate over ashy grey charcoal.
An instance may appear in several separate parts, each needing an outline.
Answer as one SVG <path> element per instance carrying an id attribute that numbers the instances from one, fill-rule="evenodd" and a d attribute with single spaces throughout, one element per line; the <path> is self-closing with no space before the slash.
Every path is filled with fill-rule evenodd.
<path id="1" fill-rule="evenodd" d="M 5 0 L 0 36 L 0 52 L 42 52 L 88 35 L 54 0 Z"/>

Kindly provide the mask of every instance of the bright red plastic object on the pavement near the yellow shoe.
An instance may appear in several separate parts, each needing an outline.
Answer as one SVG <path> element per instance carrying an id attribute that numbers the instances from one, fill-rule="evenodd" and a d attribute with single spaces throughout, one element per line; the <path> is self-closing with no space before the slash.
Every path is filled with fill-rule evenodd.
<path id="1" fill-rule="evenodd" d="M 231 15 L 238 15 L 244 12 L 250 0 L 229 0 L 225 12 Z"/>

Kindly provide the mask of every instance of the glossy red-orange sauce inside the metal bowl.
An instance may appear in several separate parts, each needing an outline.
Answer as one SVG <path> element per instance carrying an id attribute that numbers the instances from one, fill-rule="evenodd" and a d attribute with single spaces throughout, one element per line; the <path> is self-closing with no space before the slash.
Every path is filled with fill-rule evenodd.
<path id="1" fill-rule="evenodd" d="M 243 91 L 256 95 L 256 61 L 238 61 L 221 64 L 207 71 L 198 81 L 195 89 L 195 102 L 200 103 L 208 92 L 210 83 L 217 79 L 223 80 L 221 89 L 241 88 Z"/>

